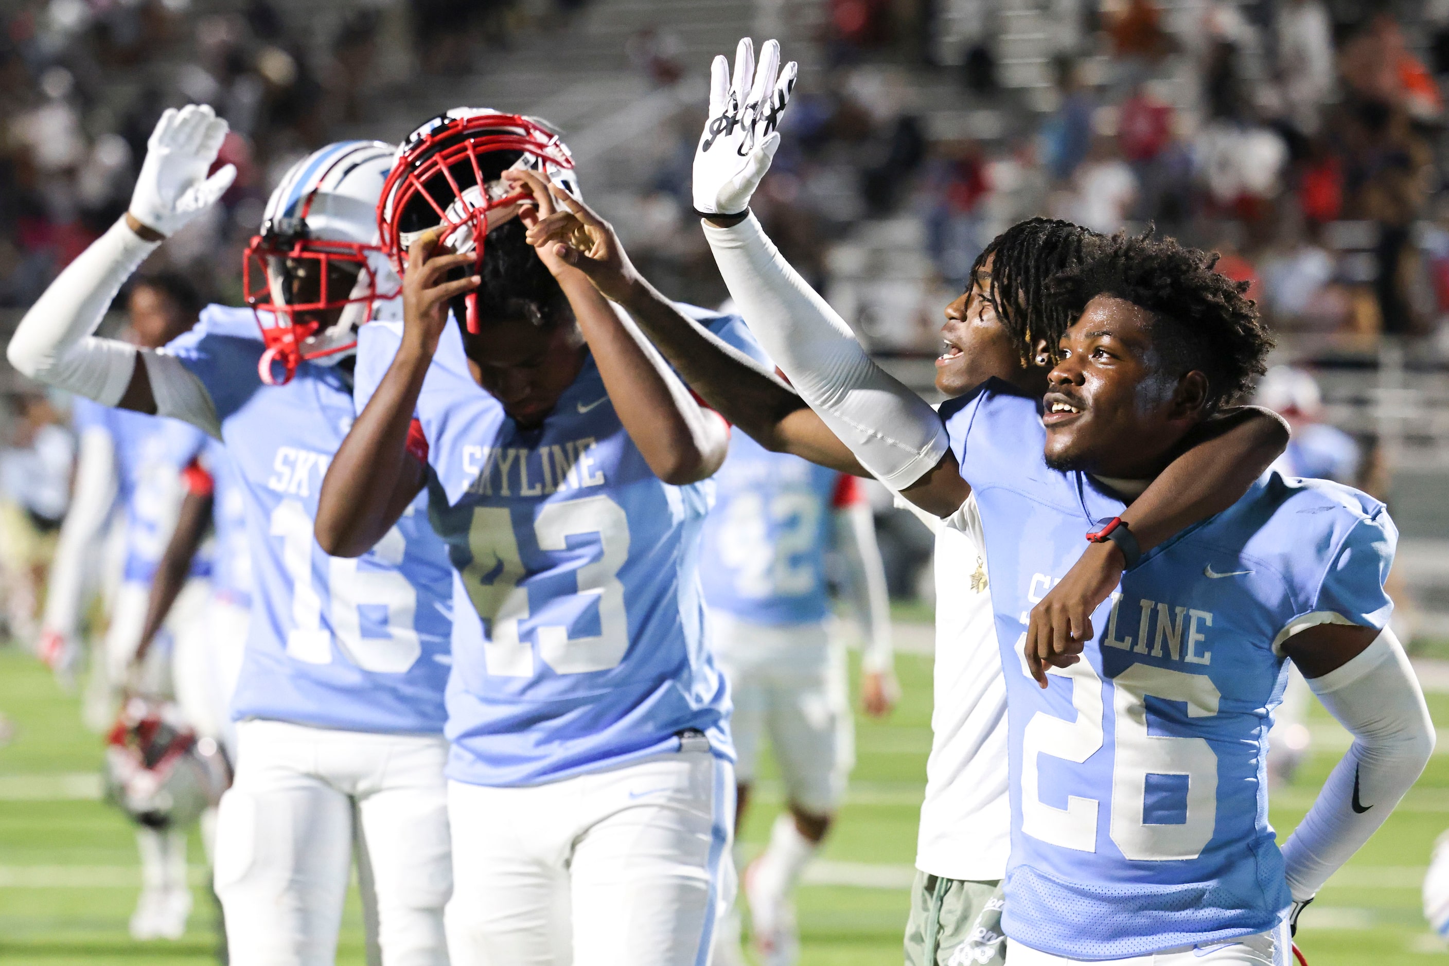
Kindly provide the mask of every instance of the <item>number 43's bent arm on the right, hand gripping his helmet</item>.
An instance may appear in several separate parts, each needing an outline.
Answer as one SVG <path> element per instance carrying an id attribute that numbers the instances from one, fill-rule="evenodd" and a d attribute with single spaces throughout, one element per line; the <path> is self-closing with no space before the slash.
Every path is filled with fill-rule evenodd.
<path id="1" fill-rule="evenodd" d="M 582 201 L 564 194 L 556 185 L 529 171 L 509 171 L 504 177 L 527 185 L 536 203 L 520 217 L 529 227 L 555 213 L 555 197 L 587 224 L 598 217 Z M 555 196 L 556 193 L 556 196 Z M 626 313 L 616 311 L 609 300 L 580 269 L 561 259 L 556 243 L 535 245 L 539 258 L 558 280 L 578 319 L 578 327 L 604 379 L 619 421 L 643 455 L 649 469 L 668 484 L 688 484 L 714 474 L 729 449 L 729 427 L 717 413 L 701 407 L 659 352 Z"/>

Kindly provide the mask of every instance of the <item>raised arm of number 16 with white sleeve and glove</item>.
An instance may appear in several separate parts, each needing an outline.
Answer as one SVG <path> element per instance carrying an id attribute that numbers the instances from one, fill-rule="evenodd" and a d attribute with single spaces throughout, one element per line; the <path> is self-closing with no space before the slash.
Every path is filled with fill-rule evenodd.
<path id="1" fill-rule="evenodd" d="M 226 122 L 210 107 L 190 104 L 161 116 L 130 209 L 25 314 L 6 349 L 10 365 L 103 406 L 175 416 L 217 433 L 210 397 L 180 361 L 91 333 L 146 256 L 230 187 L 232 165 L 206 174 L 225 138 Z"/>

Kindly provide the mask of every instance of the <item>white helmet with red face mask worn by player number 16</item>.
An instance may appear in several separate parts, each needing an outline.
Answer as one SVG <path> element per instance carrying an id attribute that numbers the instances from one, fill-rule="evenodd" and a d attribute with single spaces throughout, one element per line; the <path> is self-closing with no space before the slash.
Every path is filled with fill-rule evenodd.
<path id="1" fill-rule="evenodd" d="M 381 140 L 327 145 L 294 164 L 267 201 L 242 264 L 267 342 L 264 382 L 290 381 L 303 359 L 332 365 L 356 348 L 358 326 L 401 319 L 401 282 L 377 238 L 396 151 Z"/>

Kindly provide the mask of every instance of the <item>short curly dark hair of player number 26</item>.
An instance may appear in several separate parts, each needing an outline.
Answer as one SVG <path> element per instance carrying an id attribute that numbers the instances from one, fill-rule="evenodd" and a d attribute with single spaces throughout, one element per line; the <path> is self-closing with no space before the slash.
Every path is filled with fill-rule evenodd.
<path id="1" fill-rule="evenodd" d="M 1097 295 L 1114 295 L 1153 316 L 1152 337 L 1165 368 L 1193 369 L 1208 381 L 1208 410 L 1245 395 L 1274 339 L 1248 298 L 1249 282 L 1214 271 L 1216 252 L 1172 238 L 1123 232 L 1103 239 L 1090 258 L 1064 271 L 1052 288 L 1080 313 Z"/>

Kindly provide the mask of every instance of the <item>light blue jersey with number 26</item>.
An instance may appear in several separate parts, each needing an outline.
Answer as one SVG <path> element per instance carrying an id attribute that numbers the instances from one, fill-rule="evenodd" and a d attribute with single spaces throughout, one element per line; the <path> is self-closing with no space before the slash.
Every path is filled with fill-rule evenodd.
<path id="1" fill-rule="evenodd" d="M 1123 504 L 1046 466 L 1037 400 L 1004 382 L 942 414 L 981 508 L 1006 669 L 1007 936 L 1090 960 L 1272 928 L 1291 902 L 1268 824 L 1274 647 L 1308 616 L 1387 624 L 1384 505 L 1269 471 L 1145 553 L 1043 691 L 1022 658 L 1029 613 Z"/>

